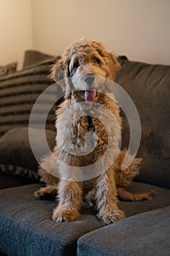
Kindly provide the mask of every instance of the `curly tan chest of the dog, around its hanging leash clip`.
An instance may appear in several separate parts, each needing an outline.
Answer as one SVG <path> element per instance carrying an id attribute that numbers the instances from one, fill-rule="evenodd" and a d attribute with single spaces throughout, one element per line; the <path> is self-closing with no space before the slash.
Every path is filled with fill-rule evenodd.
<path id="1" fill-rule="evenodd" d="M 66 106 L 68 107 L 68 105 Z M 81 106 L 80 106 L 81 107 Z M 56 122 L 57 144 L 60 151 L 74 154 L 78 159 L 83 158 L 83 162 L 96 161 L 107 150 L 112 155 L 115 146 L 118 144 L 120 134 L 117 132 L 115 119 L 110 120 L 108 110 L 82 110 L 81 108 L 61 109 Z M 90 116 L 90 124 L 89 118 Z M 93 126 L 93 129 L 89 129 Z M 111 145 L 112 144 L 112 145 Z"/>

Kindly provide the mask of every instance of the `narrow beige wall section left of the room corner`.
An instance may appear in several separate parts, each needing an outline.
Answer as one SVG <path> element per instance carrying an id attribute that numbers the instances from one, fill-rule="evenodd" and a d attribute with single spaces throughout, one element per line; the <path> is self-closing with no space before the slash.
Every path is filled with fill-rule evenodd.
<path id="1" fill-rule="evenodd" d="M 33 48 L 30 0 L 0 0 L 0 66 L 23 64 L 23 53 Z"/>

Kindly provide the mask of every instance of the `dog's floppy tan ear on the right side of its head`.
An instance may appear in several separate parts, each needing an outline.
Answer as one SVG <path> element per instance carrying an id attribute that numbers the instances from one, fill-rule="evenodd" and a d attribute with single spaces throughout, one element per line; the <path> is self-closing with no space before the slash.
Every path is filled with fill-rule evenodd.
<path id="1" fill-rule="evenodd" d="M 107 78 L 109 78 L 110 80 L 114 80 L 115 73 L 118 69 L 120 69 L 120 63 L 113 53 L 107 53 L 107 56 L 109 59 L 109 71 L 107 74 Z"/>

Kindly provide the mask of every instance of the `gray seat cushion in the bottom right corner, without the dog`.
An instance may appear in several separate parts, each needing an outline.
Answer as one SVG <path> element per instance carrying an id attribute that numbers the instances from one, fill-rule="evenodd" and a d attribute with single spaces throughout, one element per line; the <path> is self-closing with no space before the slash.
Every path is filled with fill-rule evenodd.
<path id="1" fill-rule="evenodd" d="M 170 206 L 95 230 L 77 243 L 77 256 L 169 256 Z"/>

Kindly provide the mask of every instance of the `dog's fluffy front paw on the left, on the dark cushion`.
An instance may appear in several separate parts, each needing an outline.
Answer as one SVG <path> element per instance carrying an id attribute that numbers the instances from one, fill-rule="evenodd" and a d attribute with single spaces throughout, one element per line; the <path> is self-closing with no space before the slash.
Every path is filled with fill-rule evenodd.
<path id="1" fill-rule="evenodd" d="M 53 211 L 52 219 L 55 222 L 74 222 L 74 220 L 80 217 L 80 213 L 77 210 L 70 208 L 57 207 Z"/>

